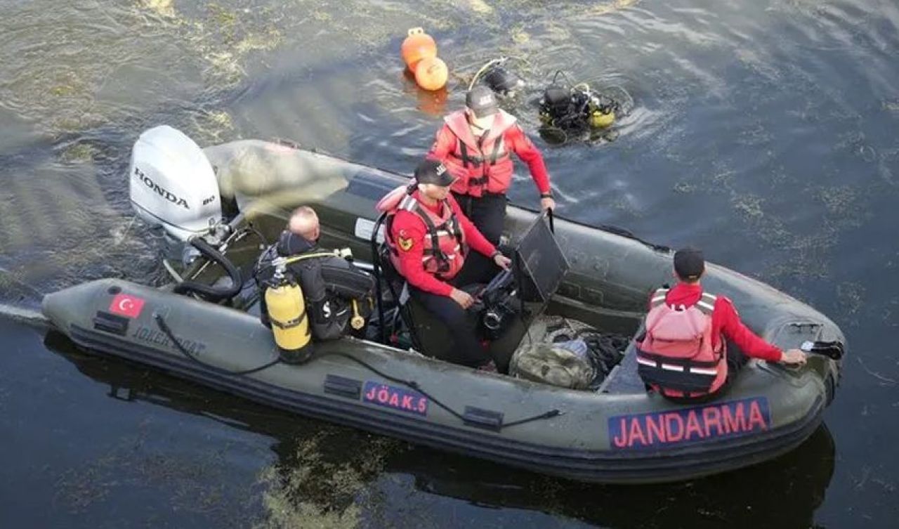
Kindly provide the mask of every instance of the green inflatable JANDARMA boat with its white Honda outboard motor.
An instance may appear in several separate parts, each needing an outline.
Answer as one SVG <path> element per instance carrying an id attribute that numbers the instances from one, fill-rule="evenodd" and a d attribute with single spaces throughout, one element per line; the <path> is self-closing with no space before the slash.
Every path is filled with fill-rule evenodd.
<path id="1" fill-rule="evenodd" d="M 51 293 L 44 314 L 97 354 L 304 416 L 572 480 L 646 483 L 792 450 L 820 425 L 840 379 L 838 354 L 810 354 L 801 368 L 751 360 L 721 399 L 679 406 L 645 390 L 633 345 L 591 390 L 445 363 L 433 356 L 451 343 L 446 330 L 396 295 L 373 252 L 382 233 L 374 205 L 407 176 L 260 140 L 200 149 L 164 126 L 138 139 L 129 179 L 138 215 L 161 227 L 187 264 L 166 260 L 173 281 L 158 288 L 104 279 Z M 352 248 L 383 288 L 367 339 L 317 343 L 310 361 L 288 364 L 260 322 L 247 276 L 263 240 L 300 204 L 317 211 L 322 246 Z M 539 339 L 547 318 L 634 336 L 649 293 L 671 279 L 671 250 L 620 229 L 510 205 L 503 237 L 521 252 L 548 237 L 555 250 L 521 257 L 526 270 L 516 279 L 536 295 L 521 295 L 490 345 L 501 371 L 522 343 Z M 761 282 L 709 264 L 703 285 L 734 300 L 743 321 L 782 348 L 842 350 L 830 319 Z"/>

